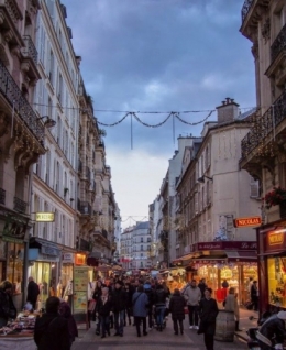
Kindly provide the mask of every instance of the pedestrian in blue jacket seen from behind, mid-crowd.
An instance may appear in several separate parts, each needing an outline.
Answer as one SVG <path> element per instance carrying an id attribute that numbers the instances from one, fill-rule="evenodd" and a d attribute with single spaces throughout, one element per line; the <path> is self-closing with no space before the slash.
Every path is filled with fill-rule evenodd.
<path id="1" fill-rule="evenodd" d="M 148 306 L 148 297 L 144 292 L 143 285 L 138 286 L 138 292 L 133 294 L 132 297 L 133 304 L 133 315 L 134 321 L 136 326 L 138 337 L 141 337 L 141 322 L 143 325 L 143 336 L 147 335 L 146 330 L 146 316 L 147 316 L 147 306 Z"/>

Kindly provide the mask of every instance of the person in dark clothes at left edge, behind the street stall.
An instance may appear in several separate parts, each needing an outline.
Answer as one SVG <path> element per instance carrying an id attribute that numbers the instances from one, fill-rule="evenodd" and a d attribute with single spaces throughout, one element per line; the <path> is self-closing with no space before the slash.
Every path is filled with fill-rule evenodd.
<path id="1" fill-rule="evenodd" d="M 0 284 L 0 328 L 8 324 L 9 318 L 16 317 L 16 308 L 12 300 L 13 285 L 9 281 Z"/>

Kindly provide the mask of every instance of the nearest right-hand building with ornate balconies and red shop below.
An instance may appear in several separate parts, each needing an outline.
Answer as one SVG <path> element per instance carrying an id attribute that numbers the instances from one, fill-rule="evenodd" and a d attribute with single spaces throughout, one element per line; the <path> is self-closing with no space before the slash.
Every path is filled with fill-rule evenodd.
<path id="1" fill-rule="evenodd" d="M 285 1 L 244 1 L 240 31 L 253 43 L 257 103 L 252 128 L 241 143 L 240 166 L 260 181 L 263 198 L 273 187 L 286 188 Z M 260 309 L 264 311 L 273 306 L 286 307 L 283 251 L 286 229 L 285 212 L 279 205 L 267 206 L 264 200 L 261 205 L 264 226 L 257 230 L 257 241 Z"/>

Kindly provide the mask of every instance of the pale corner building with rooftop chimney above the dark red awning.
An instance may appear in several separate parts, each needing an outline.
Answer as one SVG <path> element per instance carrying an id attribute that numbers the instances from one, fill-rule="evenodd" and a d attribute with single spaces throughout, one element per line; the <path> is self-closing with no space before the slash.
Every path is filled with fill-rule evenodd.
<path id="1" fill-rule="evenodd" d="M 261 214 L 258 182 L 239 168 L 251 112 L 240 114 L 230 98 L 217 111 L 218 120 L 206 122 L 201 138 L 185 149 L 176 185 L 175 264 L 188 265 L 189 277 L 205 277 L 217 293 L 229 280 L 242 302 L 249 276 L 257 276 L 256 239 L 253 228 L 235 228 L 233 220 Z"/>

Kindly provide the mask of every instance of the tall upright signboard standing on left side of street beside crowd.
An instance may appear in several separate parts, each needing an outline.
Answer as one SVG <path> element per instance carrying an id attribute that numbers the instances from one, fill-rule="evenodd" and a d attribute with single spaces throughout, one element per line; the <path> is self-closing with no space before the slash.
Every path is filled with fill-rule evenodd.
<path id="1" fill-rule="evenodd" d="M 77 322 L 87 322 L 88 266 L 74 266 L 74 317 Z"/>

